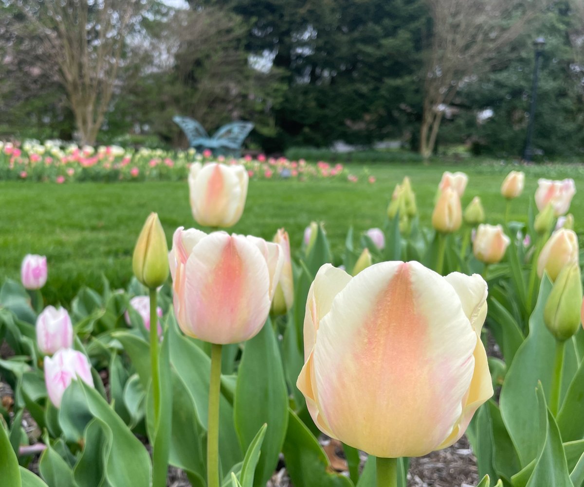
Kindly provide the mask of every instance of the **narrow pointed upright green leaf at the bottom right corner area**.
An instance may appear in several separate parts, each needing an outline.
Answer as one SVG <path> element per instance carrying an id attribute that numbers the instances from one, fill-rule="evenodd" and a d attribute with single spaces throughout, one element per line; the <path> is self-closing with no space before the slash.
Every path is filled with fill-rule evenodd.
<path id="1" fill-rule="evenodd" d="M 573 487 L 568 474 L 568 465 L 559 436 L 559 429 L 554 416 L 547 409 L 543 389 L 537 389 L 537 401 L 540 407 L 540 416 L 543 417 L 539 424 L 540 430 L 545 430 L 545 442 L 538 454 L 533 474 L 527 482 L 527 487 Z"/>

